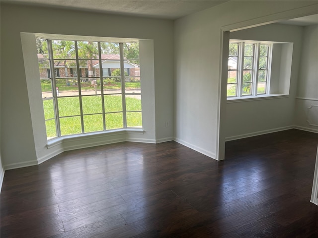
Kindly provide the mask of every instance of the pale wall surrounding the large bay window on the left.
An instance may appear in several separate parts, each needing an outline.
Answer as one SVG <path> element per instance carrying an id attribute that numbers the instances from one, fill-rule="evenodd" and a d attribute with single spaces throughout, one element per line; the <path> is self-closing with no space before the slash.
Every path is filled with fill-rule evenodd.
<path id="1" fill-rule="evenodd" d="M 21 32 L 23 34 L 20 35 Z M 32 46 L 33 33 L 149 39 L 150 43 L 145 44 L 145 51 L 149 52 L 147 47 L 152 47 L 153 60 L 150 62 L 153 66 L 150 68 L 153 76 L 149 70 L 148 72 L 146 70 L 145 75 L 148 76 L 145 77 L 146 81 L 142 82 L 142 90 L 149 89 L 148 94 L 142 95 L 143 100 L 147 101 L 142 105 L 143 111 L 146 109 L 146 116 L 143 115 L 145 133 L 111 133 L 103 136 L 102 139 L 101 135 L 89 136 L 86 142 L 89 140 L 88 145 L 91 146 L 98 144 L 100 139 L 105 143 L 111 143 L 123 139 L 158 142 L 173 138 L 173 22 L 171 20 L 1 3 L 0 128 L 4 169 L 37 164 L 63 150 L 86 144 L 82 139 L 77 138 L 65 140 L 63 145 L 46 148 L 44 120 L 39 116 L 43 110 L 40 107 L 41 96 L 35 89 L 39 87 L 35 82 L 38 78 L 33 77 L 36 75 L 33 69 L 24 68 L 25 65 L 34 63 L 35 55 L 32 56 L 30 53 L 31 48 L 35 46 Z M 141 60 L 141 70 L 142 63 Z M 170 127 L 165 127 L 166 120 L 170 121 Z"/>

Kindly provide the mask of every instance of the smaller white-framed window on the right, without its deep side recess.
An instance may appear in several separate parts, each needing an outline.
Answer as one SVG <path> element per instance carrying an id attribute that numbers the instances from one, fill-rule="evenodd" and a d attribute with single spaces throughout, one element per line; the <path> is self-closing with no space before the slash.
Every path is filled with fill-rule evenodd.
<path id="1" fill-rule="evenodd" d="M 227 96 L 268 94 L 271 53 L 269 43 L 230 41 Z"/>

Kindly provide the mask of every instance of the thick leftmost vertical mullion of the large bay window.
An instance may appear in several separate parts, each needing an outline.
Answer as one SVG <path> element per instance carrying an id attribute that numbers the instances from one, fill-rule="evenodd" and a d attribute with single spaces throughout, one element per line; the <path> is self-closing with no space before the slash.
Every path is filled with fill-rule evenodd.
<path id="1" fill-rule="evenodd" d="M 52 93 L 53 93 L 53 102 L 54 102 L 54 116 L 55 116 L 55 127 L 57 131 L 57 136 L 61 136 L 61 127 L 60 127 L 60 115 L 59 115 L 59 104 L 58 104 L 58 95 L 57 95 L 57 88 L 56 88 L 56 81 L 55 81 L 55 68 L 54 68 L 54 59 L 53 59 L 53 47 L 52 47 L 52 40 L 47 40 L 48 43 L 48 53 L 50 59 L 50 76 L 52 80 Z"/>

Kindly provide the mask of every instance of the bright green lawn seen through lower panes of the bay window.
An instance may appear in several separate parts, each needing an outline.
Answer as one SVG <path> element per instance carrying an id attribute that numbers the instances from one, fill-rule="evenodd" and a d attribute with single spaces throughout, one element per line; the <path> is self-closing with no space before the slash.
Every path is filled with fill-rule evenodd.
<path id="1" fill-rule="evenodd" d="M 79 97 L 59 98 L 59 115 L 62 135 L 81 133 Z M 105 121 L 106 130 L 123 128 L 122 98 L 118 95 L 105 95 Z M 53 101 L 43 101 L 46 121 L 47 137 L 56 136 Z M 101 96 L 82 97 L 84 132 L 102 131 L 103 114 Z M 126 110 L 138 111 L 127 112 L 127 126 L 142 126 L 141 100 L 126 98 Z M 88 115 L 94 114 L 94 115 Z M 61 118 L 62 117 L 62 118 Z M 53 120 L 48 120 L 53 119 Z"/>

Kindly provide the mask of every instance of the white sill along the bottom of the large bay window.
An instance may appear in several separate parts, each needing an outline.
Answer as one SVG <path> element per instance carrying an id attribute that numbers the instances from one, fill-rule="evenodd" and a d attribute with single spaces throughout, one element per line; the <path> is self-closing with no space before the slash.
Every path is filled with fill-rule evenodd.
<path id="1" fill-rule="evenodd" d="M 53 148 L 57 145 L 63 143 L 64 140 L 68 139 L 87 139 L 89 136 L 94 137 L 103 137 L 105 135 L 112 135 L 112 134 L 144 134 L 145 131 L 143 128 L 126 128 L 126 129 L 115 129 L 115 130 L 108 130 L 108 131 L 99 131 L 99 132 L 90 132 L 85 134 L 77 134 L 77 135 L 66 135 L 62 137 L 57 137 L 48 141 L 46 147 L 48 149 Z"/>

